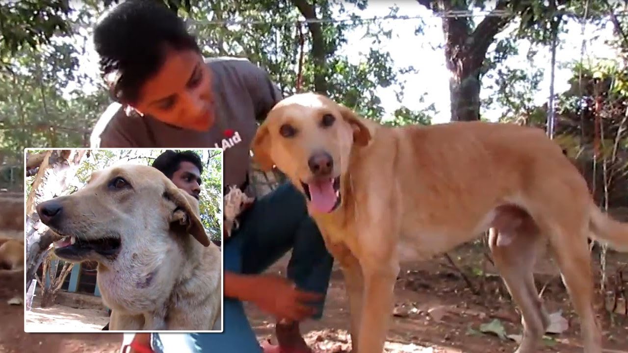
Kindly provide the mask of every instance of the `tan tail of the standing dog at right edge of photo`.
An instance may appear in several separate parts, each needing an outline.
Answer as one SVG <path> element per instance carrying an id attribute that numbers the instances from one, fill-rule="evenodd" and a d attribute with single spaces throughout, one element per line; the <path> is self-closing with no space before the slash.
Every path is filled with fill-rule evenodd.
<path id="1" fill-rule="evenodd" d="M 619 222 L 591 203 L 589 227 L 597 241 L 606 242 L 617 251 L 628 253 L 628 223 Z"/>

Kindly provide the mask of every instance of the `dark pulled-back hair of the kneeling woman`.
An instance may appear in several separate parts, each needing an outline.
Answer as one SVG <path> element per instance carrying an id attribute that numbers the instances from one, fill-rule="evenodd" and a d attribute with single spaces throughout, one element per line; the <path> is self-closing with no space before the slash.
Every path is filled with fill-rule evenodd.
<path id="1" fill-rule="evenodd" d="M 157 0 L 117 5 L 95 25 L 94 46 L 112 99 L 127 104 L 139 99 L 141 86 L 160 70 L 167 50 L 201 52 L 183 19 Z"/>

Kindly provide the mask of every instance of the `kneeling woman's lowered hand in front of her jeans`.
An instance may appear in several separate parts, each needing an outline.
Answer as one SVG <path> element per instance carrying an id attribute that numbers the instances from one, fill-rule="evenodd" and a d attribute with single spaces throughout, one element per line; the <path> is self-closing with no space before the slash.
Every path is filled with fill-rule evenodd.
<path id="1" fill-rule="evenodd" d="M 323 298 L 320 293 L 298 290 L 294 283 L 272 274 L 260 274 L 252 281 L 254 289 L 250 301 L 279 319 L 301 321 L 315 312 L 308 303 Z"/>

